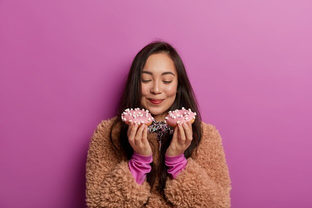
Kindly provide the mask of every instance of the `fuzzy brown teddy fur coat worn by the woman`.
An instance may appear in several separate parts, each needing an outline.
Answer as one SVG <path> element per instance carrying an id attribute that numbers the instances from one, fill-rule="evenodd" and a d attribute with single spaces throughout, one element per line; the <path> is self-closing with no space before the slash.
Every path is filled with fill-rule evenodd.
<path id="1" fill-rule="evenodd" d="M 119 159 L 109 137 L 115 118 L 103 120 L 90 141 L 86 164 L 88 208 L 230 207 L 228 167 L 222 139 L 213 125 L 202 122 L 201 143 L 192 157 L 187 159 L 185 170 L 174 180 L 167 179 L 164 199 L 155 188 L 151 190 L 146 180 L 142 185 L 137 184 L 126 158 Z M 118 144 L 119 131 L 120 128 L 114 128 L 115 144 Z M 157 165 L 159 143 L 156 134 L 149 133 L 148 140 L 152 150 L 154 148 L 153 161 Z"/>

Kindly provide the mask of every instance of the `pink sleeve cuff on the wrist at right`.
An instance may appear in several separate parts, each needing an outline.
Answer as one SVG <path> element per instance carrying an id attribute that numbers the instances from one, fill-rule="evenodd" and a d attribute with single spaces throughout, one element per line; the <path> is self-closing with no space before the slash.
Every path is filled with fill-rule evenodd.
<path id="1" fill-rule="evenodd" d="M 181 155 L 174 157 L 165 155 L 164 157 L 164 164 L 167 166 L 167 172 L 172 179 L 175 179 L 175 177 L 185 169 L 187 164 L 184 154 L 182 153 Z"/>

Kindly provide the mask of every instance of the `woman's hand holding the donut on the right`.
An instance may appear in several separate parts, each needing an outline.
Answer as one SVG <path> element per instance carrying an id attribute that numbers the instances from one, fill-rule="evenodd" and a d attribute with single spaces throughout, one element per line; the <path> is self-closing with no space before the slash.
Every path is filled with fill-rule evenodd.
<path id="1" fill-rule="evenodd" d="M 173 137 L 166 151 L 169 157 L 181 155 L 189 147 L 193 139 L 192 124 L 190 122 L 178 124 L 173 133 Z"/>

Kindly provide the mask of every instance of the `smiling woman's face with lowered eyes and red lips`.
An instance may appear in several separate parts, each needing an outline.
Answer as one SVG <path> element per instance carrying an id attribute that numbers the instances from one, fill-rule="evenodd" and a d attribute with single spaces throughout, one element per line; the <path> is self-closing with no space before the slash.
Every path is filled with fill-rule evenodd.
<path id="1" fill-rule="evenodd" d="M 141 105 L 150 111 L 156 121 L 163 121 L 177 90 L 177 73 L 167 54 L 149 56 L 141 74 L 141 86 Z"/>

